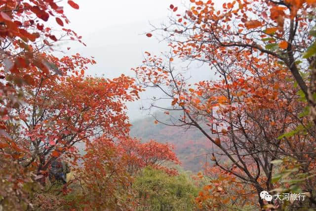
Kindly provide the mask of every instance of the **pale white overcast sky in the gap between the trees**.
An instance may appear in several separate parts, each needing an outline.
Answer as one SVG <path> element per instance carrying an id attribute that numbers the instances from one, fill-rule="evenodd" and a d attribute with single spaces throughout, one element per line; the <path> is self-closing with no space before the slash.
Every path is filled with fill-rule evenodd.
<path id="1" fill-rule="evenodd" d="M 83 56 L 94 56 L 97 62 L 92 66 L 88 75 L 105 75 L 106 78 L 118 77 L 121 74 L 134 77 L 130 69 L 137 67 L 143 60 L 144 51 L 159 55 L 168 51 L 165 42 L 158 42 L 155 34 L 148 38 L 144 33 L 152 28 L 149 22 L 160 24 L 167 22 L 171 14 L 170 3 L 184 11 L 185 3 L 189 0 L 74 0 L 79 4 L 79 10 L 66 5 L 64 10 L 71 23 L 68 28 L 73 29 L 83 37 L 86 47 L 77 42 L 69 42 L 69 53 L 79 52 Z M 66 0 L 65 0 L 65 4 Z M 190 73 L 189 73 L 190 74 Z M 195 74 L 196 75 L 196 74 Z M 204 76 L 203 76 L 204 75 Z M 205 79 L 205 74 L 198 74 Z M 210 76 L 211 77 L 211 76 Z M 144 117 L 147 112 L 140 111 L 142 105 L 148 104 L 154 90 L 142 93 L 141 100 L 128 103 L 128 115 L 131 120 Z"/>

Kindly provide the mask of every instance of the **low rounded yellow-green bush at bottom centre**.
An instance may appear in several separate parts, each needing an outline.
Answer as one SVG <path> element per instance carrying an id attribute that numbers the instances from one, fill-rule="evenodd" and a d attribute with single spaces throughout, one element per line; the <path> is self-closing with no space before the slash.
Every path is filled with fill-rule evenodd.
<path id="1" fill-rule="evenodd" d="M 191 211 L 198 189 L 185 174 L 170 176 L 147 167 L 135 178 L 132 188 L 138 193 L 138 211 Z"/>

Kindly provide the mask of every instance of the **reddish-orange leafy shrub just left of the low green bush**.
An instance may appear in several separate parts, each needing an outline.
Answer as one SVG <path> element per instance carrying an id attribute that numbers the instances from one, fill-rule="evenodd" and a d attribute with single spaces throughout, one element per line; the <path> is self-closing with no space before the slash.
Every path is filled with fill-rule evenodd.
<path id="1" fill-rule="evenodd" d="M 75 173 L 81 187 L 77 204 L 97 210 L 129 210 L 134 206 L 133 179 L 126 168 L 129 160 L 120 154 L 120 148 L 106 135 L 87 144 L 83 166 Z"/>

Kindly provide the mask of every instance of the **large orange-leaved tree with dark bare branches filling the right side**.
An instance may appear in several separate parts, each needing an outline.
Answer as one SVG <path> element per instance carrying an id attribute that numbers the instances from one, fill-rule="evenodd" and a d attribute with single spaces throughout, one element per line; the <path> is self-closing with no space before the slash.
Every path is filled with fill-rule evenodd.
<path id="1" fill-rule="evenodd" d="M 170 42 L 167 58 L 147 52 L 134 70 L 140 84 L 160 89 L 161 99 L 172 106 L 153 99 L 152 107 L 183 112 L 164 124 L 197 127 L 220 149 L 209 153 L 213 164 L 249 184 L 249 196 L 256 193 L 264 207 L 259 193 L 275 188 L 273 160 L 291 156 L 301 161 L 301 172 L 314 171 L 315 125 L 302 115 L 305 106 L 313 107 L 304 76 L 313 58 L 305 59 L 303 52 L 313 42 L 314 2 L 237 0 L 220 10 L 211 0 L 191 2 L 195 5 L 171 17 L 170 25 L 154 28 Z M 219 80 L 189 84 L 175 69 L 175 58 L 209 64 Z M 291 131 L 293 136 L 283 135 Z M 315 205 L 314 186 L 309 180 L 301 188 Z"/>

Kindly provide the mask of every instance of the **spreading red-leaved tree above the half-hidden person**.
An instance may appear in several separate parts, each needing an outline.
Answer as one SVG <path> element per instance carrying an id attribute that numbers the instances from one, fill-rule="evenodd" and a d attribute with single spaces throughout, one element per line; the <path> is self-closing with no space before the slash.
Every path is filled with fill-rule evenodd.
<path id="1" fill-rule="evenodd" d="M 78 56 L 61 61 L 70 69 L 69 62 L 83 65 L 86 60 Z M 113 80 L 83 78 L 82 74 L 83 71 L 78 76 L 44 77 L 39 72 L 32 85 L 23 86 L 23 91 L 29 94 L 25 94 L 22 105 L 9 113 L 13 120 L 8 122 L 12 124 L 9 134 L 15 142 L 30 150 L 30 158 L 21 158 L 24 166 L 37 165 L 38 161 L 40 173 L 47 169 L 52 158 L 61 154 L 75 158 L 76 163 L 76 143 L 104 133 L 109 138 L 128 133 L 123 101 L 138 97 L 134 80 L 126 76 Z"/>

